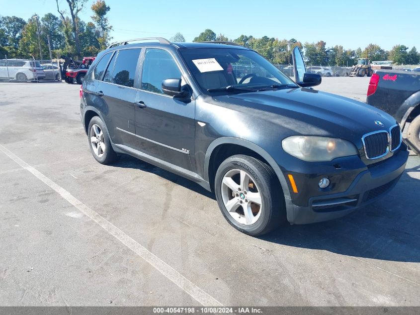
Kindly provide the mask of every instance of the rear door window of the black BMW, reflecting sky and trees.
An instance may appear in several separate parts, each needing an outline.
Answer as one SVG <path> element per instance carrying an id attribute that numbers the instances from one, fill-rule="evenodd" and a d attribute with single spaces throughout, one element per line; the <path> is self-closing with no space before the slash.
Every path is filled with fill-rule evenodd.
<path id="1" fill-rule="evenodd" d="M 112 83 L 130 88 L 134 87 L 140 50 L 140 48 L 121 49 L 118 52 L 114 70 L 112 71 Z"/>

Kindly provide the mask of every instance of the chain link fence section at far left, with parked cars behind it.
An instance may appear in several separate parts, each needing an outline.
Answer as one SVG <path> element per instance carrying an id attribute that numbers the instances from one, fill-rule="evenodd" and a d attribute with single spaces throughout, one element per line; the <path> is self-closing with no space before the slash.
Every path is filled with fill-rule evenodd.
<path id="1" fill-rule="evenodd" d="M 58 59 L 35 60 L 0 56 L 0 83 L 61 81 L 61 63 Z"/>

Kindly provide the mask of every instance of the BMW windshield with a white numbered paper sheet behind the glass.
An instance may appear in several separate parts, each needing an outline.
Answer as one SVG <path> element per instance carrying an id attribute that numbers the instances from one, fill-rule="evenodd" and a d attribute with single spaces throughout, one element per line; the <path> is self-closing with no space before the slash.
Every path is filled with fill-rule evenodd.
<path id="1" fill-rule="evenodd" d="M 252 50 L 189 48 L 179 49 L 179 52 L 206 94 L 297 87 L 289 77 Z"/>

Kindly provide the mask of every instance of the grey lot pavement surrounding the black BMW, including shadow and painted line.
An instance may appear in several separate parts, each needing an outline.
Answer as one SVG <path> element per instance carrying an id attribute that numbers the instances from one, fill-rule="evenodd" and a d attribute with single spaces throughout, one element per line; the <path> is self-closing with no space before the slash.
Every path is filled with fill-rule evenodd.
<path id="1" fill-rule="evenodd" d="M 420 306 L 418 156 L 365 209 L 255 238 L 186 179 L 97 163 L 79 88 L 0 84 L 0 306 Z"/>

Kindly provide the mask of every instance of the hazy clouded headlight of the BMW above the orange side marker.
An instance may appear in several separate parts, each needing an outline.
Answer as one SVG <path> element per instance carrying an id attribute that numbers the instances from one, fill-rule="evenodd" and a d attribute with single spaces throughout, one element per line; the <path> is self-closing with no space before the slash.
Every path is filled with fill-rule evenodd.
<path id="1" fill-rule="evenodd" d="M 357 155 L 356 147 L 347 140 L 318 137 L 291 136 L 281 141 L 283 150 L 309 162 L 331 161 L 337 157 Z"/>

